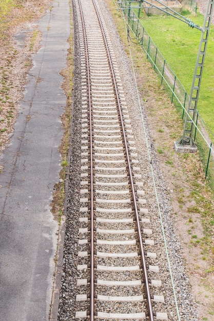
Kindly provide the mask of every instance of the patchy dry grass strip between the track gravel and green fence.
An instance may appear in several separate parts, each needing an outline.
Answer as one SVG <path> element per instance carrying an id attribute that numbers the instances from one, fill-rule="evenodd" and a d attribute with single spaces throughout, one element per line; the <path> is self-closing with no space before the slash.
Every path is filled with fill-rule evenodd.
<path id="1" fill-rule="evenodd" d="M 199 304 L 200 319 L 212 321 L 213 194 L 204 178 L 199 153 L 177 154 L 173 150 L 174 141 L 182 135 L 183 121 L 171 104 L 167 92 L 160 85 L 158 76 L 147 61 L 141 46 L 134 44 L 134 41 L 127 44 L 120 12 L 115 10 L 110 0 L 106 1 L 128 55 L 128 46 L 131 49 L 142 104 L 147 113 L 153 143 L 171 199 L 171 219 L 181 239 L 193 295 Z M 166 39 L 163 39 L 163 42 L 165 41 Z"/>

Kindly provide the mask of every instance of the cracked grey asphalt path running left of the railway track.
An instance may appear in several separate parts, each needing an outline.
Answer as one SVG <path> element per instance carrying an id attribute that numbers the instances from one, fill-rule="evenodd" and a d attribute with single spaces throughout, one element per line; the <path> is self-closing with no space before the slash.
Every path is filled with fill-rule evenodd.
<path id="1" fill-rule="evenodd" d="M 70 33 L 68 0 L 51 4 L 38 21 L 42 47 L 33 55 L 14 133 L 1 157 L 1 321 L 49 318 L 58 229 L 50 203 L 62 162 L 66 97 L 60 71 Z"/>

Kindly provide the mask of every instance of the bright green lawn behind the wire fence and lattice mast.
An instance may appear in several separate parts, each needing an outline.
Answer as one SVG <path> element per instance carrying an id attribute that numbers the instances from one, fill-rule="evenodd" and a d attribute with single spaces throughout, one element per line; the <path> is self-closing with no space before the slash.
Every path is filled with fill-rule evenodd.
<path id="1" fill-rule="evenodd" d="M 182 14 L 186 15 L 188 11 L 183 11 Z M 188 17 L 195 24 L 203 27 L 203 15 L 198 14 L 197 17 L 189 15 Z M 140 19 L 153 42 L 189 94 L 201 31 L 192 29 L 187 24 L 168 15 L 146 16 L 142 12 Z M 205 123 L 214 132 L 214 26 L 211 26 L 208 38 L 198 110 Z"/>

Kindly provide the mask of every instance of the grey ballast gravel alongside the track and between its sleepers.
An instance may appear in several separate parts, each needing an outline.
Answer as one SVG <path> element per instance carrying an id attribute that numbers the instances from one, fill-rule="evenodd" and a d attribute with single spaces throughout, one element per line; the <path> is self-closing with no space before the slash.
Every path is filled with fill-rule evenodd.
<path id="1" fill-rule="evenodd" d="M 75 319 L 75 311 L 89 311 L 89 304 L 88 301 L 86 302 L 76 302 L 76 294 L 85 294 L 85 290 L 81 289 L 81 287 L 77 287 L 77 278 L 87 278 L 89 279 L 88 272 L 85 268 L 83 270 L 77 270 L 77 265 L 83 265 L 88 264 L 88 258 L 80 258 L 78 257 L 79 251 L 87 251 L 87 245 L 81 246 L 78 244 L 79 239 L 88 238 L 89 234 L 88 232 L 85 232 L 83 235 L 79 233 L 79 229 L 86 227 L 86 224 L 83 224 L 79 221 L 80 217 L 86 216 L 83 213 L 80 213 L 79 209 L 82 206 L 85 206 L 85 204 L 80 203 L 81 196 L 80 189 L 85 188 L 81 187 L 81 180 L 85 180 L 85 178 L 81 178 L 81 135 L 82 135 L 82 121 L 81 121 L 81 104 L 82 104 L 82 95 L 81 95 L 81 53 L 80 53 L 80 45 L 79 45 L 79 34 L 77 27 L 77 18 L 75 14 L 75 3 L 73 1 L 74 6 L 74 14 L 73 14 L 73 21 L 74 21 L 74 42 L 75 42 L 75 70 L 74 70 L 74 96 L 73 96 L 73 118 L 72 118 L 72 141 L 71 141 L 71 163 L 70 163 L 70 181 L 69 181 L 69 192 L 68 192 L 68 207 L 67 207 L 67 218 L 66 218 L 66 235 L 65 235 L 65 245 L 64 245 L 64 258 L 63 258 L 63 274 L 62 274 L 62 289 L 61 289 L 61 296 L 60 296 L 60 305 L 59 305 L 59 315 L 58 320 L 64 321 L 64 320 L 71 320 Z M 147 199 L 147 204 L 145 206 L 146 209 L 149 209 L 148 214 L 146 215 L 147 218 L 150 218 L 150 224 L 146 225 L 143 224 L 142 233 L 144 239 L 152 239 L 154 240 L 155 244 L 155 252 L 157 252 L 157 258 L 149 258 L 148 264 L 151 264 L 152 266 L 158 264 L 160 269 L 160 275 L 162 280 L 162 287 L 160 288 L 161 293 L 163 294 L 165 298 L 165 302 L 167 303 L 166 310 L 169 311 L 168 317 L 170 320 L 177 320 L 178 317 L 174 312 L 174 299 L 172 295 L 172 291 L 169 291 L 169 288 L 171 289 L 171 280 L 169 277 L 169 267 L 166 260 L 166 251 L 165 251 L 165 243 L 168 248 L 168 255 L 169 255 L 169 261 L 170 261 L 170 267 L 171 267 L 171 274 L 174 281 L 174 289 L 177 293 L 177 300 L 178 300 L 178 308 L 180 313 L 181 320 L 191 320 L 191 321 L 197 321 L 198 315 L 197 315 L 197 305 L 194 303 L 193 297 L 191 295 L 190 291 L 190 284 L 187 277 L 187 274 L 184 269 L 184 264 L 182 260 L 182 251 L 180 249 L 179 239 L 176 233 L 173 229 L 173 221 L 171 219 L 171 206 L 170 206 L 170 200 L 169 196 L 166 193 L 165 190 L 165 182 L 162 173 L 160 172 L 160 169 L 158 167 L 158 162 L 155 157 L 155 151 L 152 149 L 152 142 L 150 141 L 150 135 L 149 135 L 149 128 L 147 126 L 147 119 L 144 115 L 144 123 L 145 123 L 145 132 L 146 137 L 149 142 L 149 151 L 152 159 L 152 166 L 154 171 L 154 177 L 156 181 L 156 187 L 157 187 L 157 193 L 159 197 L 160 202 L 160 211 L 162 215 L 162 224 L 163 224 L 163 231 L 165 236 L 162 234 L 161 228 L 161 220 L 159 217 L 158 207 L 157 207 L 157 200 L 155 198 L 154 193 L 154 185 L 152 181 L 152 175 L 150 171 L 150 159 L 148 157 L 148 154 L 145 153 L 147 150 L 146 148 L 146 142 L 145 142 L 145 133 L 142 126 L 141 121 L 141 113 L 138 103 L 138 96 L 136 89 L 134 87 L 134 79 L 132 72 L 130 71 L 130 64 L 128 62 L 128 59 L 125 55 L 125 52 L 123 50 L 123 46 L 120 42 L 120 38 L 118 36 L 118 33 L 115 30 L 114 23 L 112 21 L 112 18 L 110 16 L 110 13 L 108 12 L 107 6 L 104 2 L 104 0 L 99 1 L 99 7 L 101 11 L 103 12 L 103 19 L 105 20 L 105 24 L 108 29 L 109 38 L 111 41 L 111 44 L 114 49 L 114 56 L 117 63 L 117 66 L 120 70 L 120 78 L 122 79 L 121 83 L 124 89 L 125 98 L 127 102 L 127 109 L 129 113 L 129 119 L 131 122 L 131 128 L 133 131 L 135 142 L 135 147 L 137 148 L 138 157 L 135 157 L 133 155 L 133 159 L 139 159 L 139 166 L 141 168 L 143 179 L 139 179 L 140 181 L 143 181 L 144 186 L 143 190 L 145 191 L 145 198 Z M 109 129 L 111 129 L 109 127 Z M 102 159 L 101 156 L 98 156 L 98 159 Z M 115 159 L 118 159 L 118 157 L 115 157 Z M 86 164 L 84 164 L 86 165 Z M 102 171 L 100 172 L 102 173 Z M 87 179 L 87 178 L 86 178 Z M 111 182 L 111 180 L 109 180 Z M 113 180 L 112 180 L 113 182 Z M 123 182 L 123 179 L 121 180 Z M 104 188 L 102 187 L 102 190 Z M 115 187 L 115 190 L 118 189 Z M 85 196 L 84 196 L 85 197 Z M 143 196 L 144 197 L 144 196 Z M 101 198 L 104 198 L 103 196 Z M 123 197 L 121 197 L 123 198 Z M 108 208 L 111 208 L 111 205 L 105 205 Z M 143 207 L 141 205 L 141 207 Z M 126 208 L 126 206 L 124 206 Z M 96 214 L 96 213 L 95 213 Z M 99 213 L 97 213 L 99 216 Z M 123 216 L 124 214 L 122 214 Z M 104 217 L 104 215 L 102 215 Z M 109 218 L 109 215 L 106 215 L 107 218 Z M 114 216 L 114 218 L 121 218 L 121 214 L 117 214 Z M 124 215 L 124 217 L 127 218 L 127 215 Z M 144 217 L 142 215 L 142 217 Z M 108 224 L 100 224 L 99 228 L 105 229 L 108 226 Z M 112 224 L 109 225 L 110 228 L 112 228 Z M 148 235 L 143 232 L 143 229 L 151 229 L 152 226 L 152 235 Z M 126 224 L 127 227 L 127 224 Z M 124 228 L 124 224 L 120 223 L 113 227 L 114 229 L 120 229 Z M 133 225 L 130 224 L 130 228 L 133 228 Z M 106 235 L 103 235 L 99 233 L 99 239 L 106 239 Z M 115 235 L 109 234 L 108 240 L 114 240 Z M 121 240 L 128 240 L 128 239 L 134 239 L 134 234 L 131 235 L 121 235 Z M 112 247 L 111 247 L 112 249 Z M 133 250 L 131 247 L 127 247 L 127 251 Z M 150 246 L 145 245 L 145 249 L 150 251 Z M 108 247 L 106 246 L 106 250 L 108 250 Z M 123 248 L 124 251 L 124 248 Z M 161 260 L 159 259 L 161 257 Z M 103 258 L 96 258 L 96 263 L 99 265 L 102 265 Z M 106 264 L 105 259 L 105 264 Z M 108 258 L 109 266 L 123 266 L 123 258 Z M 138 265 L 139 259 L 135 258 L 131 260 L 131 265 L 133 264 Z M 128 272 L 126 272 L 128 275 Z M 136 275 L 138 272 L 136 273 Z M 103 279 L 108 279 L 108 273 L 103 272 L 102 276 Z M 111 274 L 112 275 L 112 274 Z M 113 279 L 118 280 L 117 273 L 113 274 Z M 149 276 L 152 278 L 157 278 L 157 274 L 154 272 L 150 272 Z M 127 276 L 128 277 L 128 276 Z M 103 286 L 102 286 L 103 289 Z M 118 290 L 118 295 L 134 295 L 135 290 L 132 289 L 132 291 L 127 288 L 119 287 L 116 288 Z M 113 295 L 115 295 L 115 292 Z M 106 295 L 111 295 L 108 288 L 106 288 Z M 103 291 L 103 290 L 102 290 Z M 129 292 L 131 291 L 131 293 Z M 135 295 L 138 295 L 139 288 L 136 289 Z M 141 303 L 142 304 L 142 303 Z M 98 301 L 97 306 L 100 306 L 100 302 Z M 115 306 L 114 306 L 115 307 Z M 127 307 L 127 304 L 126 304 Z M 154 307 L 156 311 L 160 311 L 161 304 L 156 302 L 154 303 Z M 118 309 L 121 311 L 124 306 L 120 303 L 118 304 Z M 136 305 L 136 312 L 141 311 L 139 308 L 139 305 Z M 103 308 L 101 308 L 103 309 Z M 105 305 L 105 311 L 109 310 L 111 312 L 112 305 L 110 303 L 107 303 Z M 113 311 L 113 312 L 116 312 Z M 127 313 L 127 309 L 124 308 L 124 313 Z"/>

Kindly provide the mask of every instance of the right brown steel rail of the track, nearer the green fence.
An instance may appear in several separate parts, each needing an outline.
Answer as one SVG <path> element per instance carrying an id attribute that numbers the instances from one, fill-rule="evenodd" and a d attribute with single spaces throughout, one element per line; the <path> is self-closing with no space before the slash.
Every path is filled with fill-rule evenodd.
<path id="1" fill-rule="evenodd" d="M 122 127 L 124 144 L 125 144 L 125 152 L 126 152 L 126 158 L 127 158 L 127 164 L 128 164 L 129 180 L 130 180 L 130 185 L 131 185 L 131 194 L 132 194 L 132 199 L 133 199 L 133 207 L 134 207 L 134 213 L 135 213 L 135 218 L 136 218 L 136 222 L 137 222 L 137 230 L 138 230 L 139 245 L 140 245 L 140 252 L 141 252 L 141 264 L 143 267 L 144 282 L 146 285 L 145 292 L 146 292 L 146 297 L 147 297 L 147 308 L 149 311 L 149 321 L 154 321 L 151 295 L 150 295 L 150 290 L 149 290 L 149 280 L 148 280 L 147 267 L 146 267 L 146 259 L 145 259 L 143 239 L 142 239 L 142 234 L 141 234 L 141 224 L 140 224 L 139 211 L 138 211 L 138 205 L 137 205 L 137 197 L 135 195 L 134 182 L 133 182 L 132 171 L 131 171 L 131 162 L 130 162 L 130 158 L 129 158 L 128 144 L 127 144 L 127 139 L 126 139 L 125 127 L 124 127 L 124 123 L 123 123 L 123 115 L 122 115 L 122 110 L 121 110 L 121 105 L 120 105 L 120 98 L 119 98 L 118 90 L 116 88 L 116 80 L 115 80 L 115 76 L 114 76 L 114 72 L 113 72 L 113 66 L 111 63 L 110 52 L 108 50 L 108 44 L 106 41 L 105 31 L 104 31 L 104 28 L 103 28 L 103 25 L 101 22 L 98 8 L 96 7 L 94 0 L 92 0 L 92 3 L 94 6 L 94 9 L 96 11 L 96 15 L 98 17 L 99 24 L 100 24 L 100 27 L 102 30 L 103 40 L 104 40 L 104 43 L 106 46 L 106 52 L 107 52 L 108 59 L 109 59 L 109 67 L 110 67 L 110 70 L 112 73 L 112 82 L 113 82 L 114 91 L 115 91 L 115 95 L 116 95 L 116 103 L 118 105 L 118 110 L 119 110 L 119 114 L 120 114 L 120 121 L 121 121 L 121 127 Z"/>

